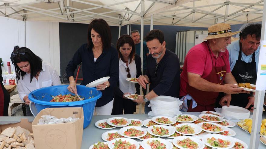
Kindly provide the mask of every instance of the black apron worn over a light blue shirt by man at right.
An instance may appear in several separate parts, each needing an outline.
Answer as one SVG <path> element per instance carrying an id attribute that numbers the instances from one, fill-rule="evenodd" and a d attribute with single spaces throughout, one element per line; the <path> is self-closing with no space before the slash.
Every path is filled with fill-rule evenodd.
<path id="1" fill-rule="evenodd" d="M 238 60 L 236 60 L 235 66 L 232 70 L 232 74 L 235 77 L 237 83 L 251 83 L 255 84 L 257 79 L 257 69 L 255 62 L 255 52 L 252 54 L 251 63 L 246 63 L 241 60 L 242 58 L 242 48 L 240 42 L 240 50 L 238 54 Z M 246 107 L 248 104 L 248 97 L 250 94 L 241 93 L 241 94 L 233 94 L 230 105 Z M 250 109 L 249 107 L 248 109 Z"/>

